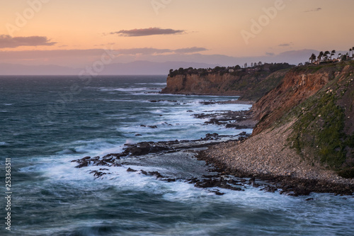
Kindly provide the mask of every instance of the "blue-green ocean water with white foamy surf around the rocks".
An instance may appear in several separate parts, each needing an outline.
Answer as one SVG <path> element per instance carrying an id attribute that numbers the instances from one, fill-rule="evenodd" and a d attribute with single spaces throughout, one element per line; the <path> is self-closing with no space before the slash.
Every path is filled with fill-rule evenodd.
<path id="1" fill-rule="evenodd" d="M 192 116 L 250 108 L 200 103 L 235 97 L 158 94 L 164 86 L 162 76 L 0 77 L 0 234 L 354 235 L 352 196 L 292 197 L 252 186 L 220 189 L 225 194 L 217 196 L 183 180 L 169 183 L 126 171 L 195 176 L 205 165 L 192 156 L 104 167 L 110 174 L 98 179 L 90 172 L 102 167 L 75 168 L 72 160 L 120 152 L 125 143 L 251 133 L 205 125 Z M 5 188 L 6 158 L 11 189 Z M 6 210 L 9 191 L 11 210 Z"/>

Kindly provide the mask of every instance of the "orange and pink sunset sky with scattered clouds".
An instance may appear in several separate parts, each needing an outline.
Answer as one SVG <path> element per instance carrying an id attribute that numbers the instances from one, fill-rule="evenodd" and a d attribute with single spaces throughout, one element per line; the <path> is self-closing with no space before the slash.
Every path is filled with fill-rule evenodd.
<path id="1" fill-rule="evenodd" d="M 0 64 L 302 62 L 354 46 L 353 0 L 0 0 Z M 105 60 L 108 63 L 108 59 Z M 1 74 L 1 72 L 0 72 Z"/>

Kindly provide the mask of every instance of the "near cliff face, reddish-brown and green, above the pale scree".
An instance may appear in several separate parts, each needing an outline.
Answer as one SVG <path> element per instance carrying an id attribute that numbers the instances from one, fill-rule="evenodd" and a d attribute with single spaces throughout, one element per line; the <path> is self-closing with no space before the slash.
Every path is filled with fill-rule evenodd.
<path id="1" fill-rule="evenodd" d="M 253 136 L 292 123 L 299 157 L 354 177 L 354 62 L 296 67 L 253 105 Z"/>

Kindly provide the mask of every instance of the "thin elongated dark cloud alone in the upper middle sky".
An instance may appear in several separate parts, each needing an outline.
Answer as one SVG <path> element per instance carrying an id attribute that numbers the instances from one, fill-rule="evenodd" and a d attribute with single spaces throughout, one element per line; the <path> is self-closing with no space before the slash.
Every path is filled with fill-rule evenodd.
<path id="1" fill-rule="evenodd" d="M 149 35 L 176 35 L 185 33 L 185 30 L 173 30 L 171 28 L 140 28 L 134 30 L 120 30 L 111 32 L 111 35 L 118 34 L 121 37 L 140 37 Z"/>

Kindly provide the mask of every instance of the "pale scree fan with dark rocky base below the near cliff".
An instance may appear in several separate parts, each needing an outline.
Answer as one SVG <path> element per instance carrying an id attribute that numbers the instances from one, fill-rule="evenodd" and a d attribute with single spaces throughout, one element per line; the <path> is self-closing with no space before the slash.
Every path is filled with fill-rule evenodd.
<path id="1" fill-rule="evenodd" d="M 268 181 L 292 196 L 316 193 L 353 195 L 354 179 L 344 179 L 301 159 L 285 143 L 291 123 L 241 142 L 215 145 L 198 154 L 225 174 Z"/>

